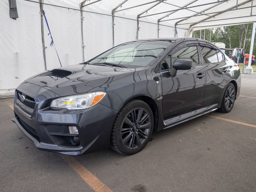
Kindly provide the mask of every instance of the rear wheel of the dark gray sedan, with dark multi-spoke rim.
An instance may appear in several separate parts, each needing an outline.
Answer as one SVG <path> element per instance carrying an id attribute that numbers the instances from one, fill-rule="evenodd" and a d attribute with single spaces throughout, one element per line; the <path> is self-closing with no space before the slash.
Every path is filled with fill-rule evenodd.
<path id="1" fill-rule="evenodd" d="M 233 85 L 233 83 L 229 83 L 227 88 L 225 89 L 222 101 L 221 101 L 221 107 L 218 109 L 218 111 L 223 113 L 228 113 L 232 110 L 235 102 L 235 96 L 236 89 Z"/>

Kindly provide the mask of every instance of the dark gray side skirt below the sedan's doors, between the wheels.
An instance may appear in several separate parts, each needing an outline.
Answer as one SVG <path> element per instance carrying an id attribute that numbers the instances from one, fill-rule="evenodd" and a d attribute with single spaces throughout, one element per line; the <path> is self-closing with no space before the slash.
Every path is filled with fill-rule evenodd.
<path id="1" fill-rule="evenodd" d="M 166 126 L 166 127 L 164 127 L 164 129 L 178 125 L 180 123 L 183 123 L 185 121 L 191 120 L 196 117 L 199 117 L 206 113 L 212 112 L 212 111 L 218 109 L 217 106 L 218 106 L 218 104 L 209 105 L 209 106 L 203 107 L 201 109 L 197 109 L 195 111 L 191 111 L 191 112 L 188 112 L 188 113 L 176 116 L 176 117 L 166 119 L 166 120 L 164 120 L 164 125 Z"/>

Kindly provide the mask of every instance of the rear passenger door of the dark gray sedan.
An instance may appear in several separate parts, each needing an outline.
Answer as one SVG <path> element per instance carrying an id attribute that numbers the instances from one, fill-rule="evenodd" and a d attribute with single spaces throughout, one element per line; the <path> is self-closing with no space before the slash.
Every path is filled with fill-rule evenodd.
<path id="1" fill-rule="evenodd" d="M 205 94 L 203 106 L 219 103 L 224 89 L 230 81 L 230 67 L 225 62 L 224 55 L 211 45 L 200 45 L 201 60 L 205 68 Z"/>

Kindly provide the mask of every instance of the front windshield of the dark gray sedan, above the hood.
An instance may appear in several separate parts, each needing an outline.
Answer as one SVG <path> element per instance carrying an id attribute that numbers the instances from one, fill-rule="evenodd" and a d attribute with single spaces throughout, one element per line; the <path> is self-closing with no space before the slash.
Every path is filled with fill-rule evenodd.
<path id="1" fill-rule="evenodd" d="M 172 44 L 171 41 L 137 41 L 122 44 L 90 61 L 93 63 L 114 63 L 126 67 L 147 66 L 153 59 Z"/>

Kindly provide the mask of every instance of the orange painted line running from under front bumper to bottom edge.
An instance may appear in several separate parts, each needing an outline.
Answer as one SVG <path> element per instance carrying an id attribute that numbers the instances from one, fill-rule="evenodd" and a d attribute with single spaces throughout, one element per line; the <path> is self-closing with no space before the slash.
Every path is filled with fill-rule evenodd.
<path id="1" fill-rule="evenodd" d="M 96 176 L 81 165 L 74 157 L 61 155 L 61 157 L 80 175 L 80 177 L 87 182 L 87 184 L 96 192 L 112 192 L 104 183 L 102 183 Z"/>

